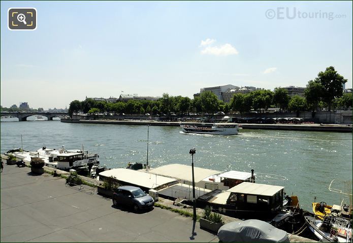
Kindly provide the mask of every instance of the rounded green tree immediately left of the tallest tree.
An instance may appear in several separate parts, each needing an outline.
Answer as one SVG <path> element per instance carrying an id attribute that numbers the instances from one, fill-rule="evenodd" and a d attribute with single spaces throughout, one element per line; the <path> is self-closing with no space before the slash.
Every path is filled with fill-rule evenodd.
<path id="1" fill-rule="evenodd" d="M 304 90 L 304 96 L 312 111 L 317 110 L 318 104 L 322 100 L 323 93 L 324 87 L 317 79 L 309 80 L 306 89 Z"/>

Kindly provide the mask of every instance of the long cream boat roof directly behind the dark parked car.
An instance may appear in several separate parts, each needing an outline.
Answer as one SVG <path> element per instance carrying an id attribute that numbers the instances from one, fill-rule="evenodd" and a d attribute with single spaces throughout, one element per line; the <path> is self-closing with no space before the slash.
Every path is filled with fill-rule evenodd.
<path id="1" fill-rule="evenodd" d="M 174 184 L 178 181 L 164 176 L 151 175 L 150 173 L 118 168 L 99 173 L 100 176 L 113 177 L 118 181 L 154 189 L 165 184 Z"/>

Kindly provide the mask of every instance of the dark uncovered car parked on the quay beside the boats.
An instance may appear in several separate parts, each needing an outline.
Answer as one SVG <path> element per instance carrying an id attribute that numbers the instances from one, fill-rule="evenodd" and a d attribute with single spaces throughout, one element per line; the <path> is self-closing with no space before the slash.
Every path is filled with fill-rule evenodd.
<path id="1" fill-rule="evenodd" d="M 154 200 L 139 187 L 120 186 L 113 194 L 113 204 L 114 206 L 130 206 L 134 211 L 138 211 L 153 208 Z"/>

